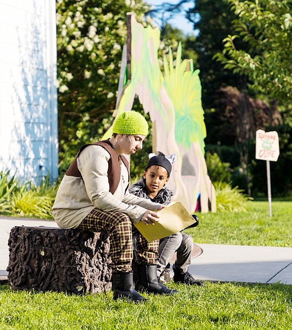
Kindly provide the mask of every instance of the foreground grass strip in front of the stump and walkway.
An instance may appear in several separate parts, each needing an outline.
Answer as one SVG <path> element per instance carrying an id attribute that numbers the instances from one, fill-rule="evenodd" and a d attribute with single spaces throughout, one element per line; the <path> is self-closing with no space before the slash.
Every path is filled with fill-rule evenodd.
<path id="1" fill-rule="evenodd" d="M 112 293 L 70 296 L 12 292 L 0 286 L 0 328 L 8 329 L 283 329 L 292 324 L 292 286 L 170 283 L 175 296 L 144 294 L 139 305 Z"/>

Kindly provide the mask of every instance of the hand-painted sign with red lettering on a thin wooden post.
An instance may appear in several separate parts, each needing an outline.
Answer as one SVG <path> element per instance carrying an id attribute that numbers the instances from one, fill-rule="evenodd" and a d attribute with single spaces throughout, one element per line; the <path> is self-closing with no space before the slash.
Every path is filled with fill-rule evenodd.
<path id="1" fill-rule="evenodd" d="M 256 159 L 266 160 L 269 215 L 272 217 L 272 194 L 270 160 L 277 161 L 279 157 L 279 137 L 276 131 L 265 132 L 261 129 L 256 131 Z"/>

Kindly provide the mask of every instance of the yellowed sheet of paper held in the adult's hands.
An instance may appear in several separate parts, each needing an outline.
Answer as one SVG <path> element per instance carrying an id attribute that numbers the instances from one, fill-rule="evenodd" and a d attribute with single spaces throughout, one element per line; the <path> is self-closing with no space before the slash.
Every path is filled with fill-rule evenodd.
<path id="1" fill-rule="evenodd" d="M 134 224 L 148 242 L 175 234 L 196 222 L 181 202 L 172 203 L 158 213 L 159 222 L 155 224 L 146 225 L 141 221 Z"/>

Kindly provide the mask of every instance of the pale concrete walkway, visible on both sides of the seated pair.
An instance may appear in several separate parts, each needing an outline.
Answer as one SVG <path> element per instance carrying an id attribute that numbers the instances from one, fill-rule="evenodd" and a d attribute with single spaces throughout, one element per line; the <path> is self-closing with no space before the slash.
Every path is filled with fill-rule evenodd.
<path id="1" fill-rule="evenodd" d="M 8 239 L 14 226 L 56 227 L 51 220 L 0 217 L 0 280 L 7 280 Z M 200 280 L 292 285 L 292 247 L 198 244 L 189 272 Z"/>

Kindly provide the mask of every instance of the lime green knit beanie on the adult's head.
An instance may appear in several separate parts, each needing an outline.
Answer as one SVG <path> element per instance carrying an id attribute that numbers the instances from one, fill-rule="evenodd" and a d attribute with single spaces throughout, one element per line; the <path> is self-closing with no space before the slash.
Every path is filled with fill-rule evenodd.
<path id="1" fill-rule="evenodd" d="M 147 136 L 148 123 L 138 112 L 125 111 L 115 119 L 113 133 Z"/>

